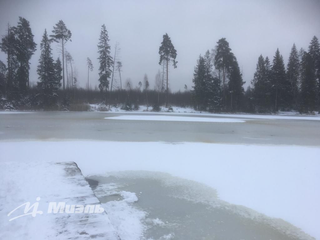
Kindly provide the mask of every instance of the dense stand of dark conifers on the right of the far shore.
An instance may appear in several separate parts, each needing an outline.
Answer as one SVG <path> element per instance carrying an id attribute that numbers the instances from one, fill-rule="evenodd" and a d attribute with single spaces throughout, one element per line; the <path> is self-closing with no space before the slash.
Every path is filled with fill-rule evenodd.
<path id="1" fill-rule="evenodd" d="M 314 36 L 308 52 L 293 44 L 286 68 L 279 49 L 272 63 L 260 55 L 251 86 L 244 91 L 236 57 L 221 38 L 215 49 L 197 60 L 192 98 L 196 109 L 212 112 L 308 113 L 319 111 L 319 79 L 320 45 Z"/>

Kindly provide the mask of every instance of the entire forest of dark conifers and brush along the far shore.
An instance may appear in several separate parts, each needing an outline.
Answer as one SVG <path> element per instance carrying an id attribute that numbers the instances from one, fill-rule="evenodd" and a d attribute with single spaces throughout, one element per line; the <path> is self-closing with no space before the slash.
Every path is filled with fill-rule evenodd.
<path id="1" fill-rule="evenodd" d="M 40 43 L 35 43 L 25 18 L 19 17 L 17 26 L 8 24 L 0 43 L 7 60 L 0 60 L 0 109 L 88 111 L 89 104 L 102 103 L 105 111 L 110 106 L 138 110 L 140 105 L 153 111 L 159 111 L 162 106 L 179 106 L 217 113 L 320 110 L 320 44 L 316 36 L 308 49 L 298 49 L 292 44 L 287 66 L 279 49 L 270 58 L 257 56 L 256 71 L 246 89 L 237 58 L 227 39 L 221 38 L 211 50 L 199 55 L 193 85 L 185 84 L 184 91 L 176 92 L 169 88 L 169 69 L 179 67 L 178 53 L 168 34 L 155 46 L 159 48 L 158 64 L 162 71 L 156 73 L 153 89 L 146 74 L 137 86 L 133 86 L 130 78 L 121 79 L 122 62 L 116 59 L 117 47 L 115 50 L 110 47 L 104 24 L 97 42 L 99 66 L 93 66 L 87 58 L 87 65 L 82 68 L 88 69 L 88 82 L 86 87 L 78 86 L 73 58 L 66 48 L 71 40 L 72 33 L 62 20 L 52 29 L 44 30 Z M 61 58 L 53 59 L 53 46 Z M 38 79 L 32 84 L 29 61 L 37 48 L 41 50 Z M 90 76 L 93 67 L 99 68 L 98 76 Z M 114 74 L 120 76 L 119 81 Z M 89 81 L 98 87 L 89 87 Z"/>

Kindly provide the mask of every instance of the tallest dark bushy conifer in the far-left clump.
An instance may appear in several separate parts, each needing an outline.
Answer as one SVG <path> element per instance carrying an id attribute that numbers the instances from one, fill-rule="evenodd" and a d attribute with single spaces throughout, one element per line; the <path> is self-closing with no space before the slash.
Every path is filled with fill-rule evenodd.
<path id="1" fill-rule="evenodd" d="M 17 78 L 19 89 L 25 92 L 29 88 L 29 61 L 36 51 L 36 43 L 33 41 L 30 23 L 25 18 L 19 17 L 18 26 L 13 28 L 16 35 L 16 54 L 19 62 Z"/>

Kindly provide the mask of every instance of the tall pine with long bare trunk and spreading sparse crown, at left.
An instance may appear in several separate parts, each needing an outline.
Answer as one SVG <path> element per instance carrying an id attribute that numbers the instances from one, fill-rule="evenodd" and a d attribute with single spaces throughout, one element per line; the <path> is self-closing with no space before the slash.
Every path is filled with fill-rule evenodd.
<path id="1" fill-rule="evenodd" d="M 53 26 L 52 30 L 53 35 L 50 35 L 50 37 L 53 37 L 54 41 L 57 42 L 59 45 L 59 52 L 62 53 L 62 79 L 63 79 L 63 92 L 65 89 L 64 86 L 64 52 L 65 52 L 65 45 L 68 41 L 71 42 L 71 31 L 66 27 L 66 24 L 59 20 L 59 22 L 56 24 L 56 26 Z"/>

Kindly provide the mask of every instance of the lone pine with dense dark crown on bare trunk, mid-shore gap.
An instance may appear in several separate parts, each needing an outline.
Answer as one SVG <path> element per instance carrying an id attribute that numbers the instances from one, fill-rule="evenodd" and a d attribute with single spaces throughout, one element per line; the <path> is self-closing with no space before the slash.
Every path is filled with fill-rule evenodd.
<path id="1" fill-rule="evenodd" d="M 174 49 L 174 46 L 171 42 L 170 37 L 166 33 L 163 35 L 163 41 L 159 47 L 160 61 L 159 65 L 161 65 L 162 61 L 166 63 L 166 72 L 167 72 L 167 106 L 169 106 L 169 85 L 168 85 L 168 66 L 169 63 L 172 62 L 173 68 L 177 68 L 177 51 Z"/>

